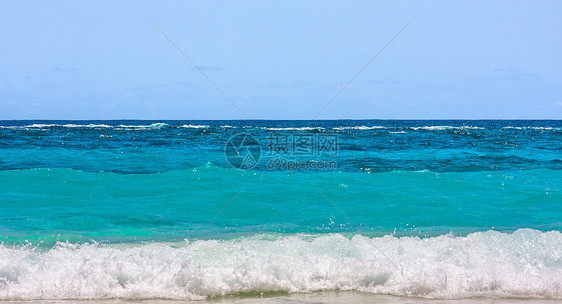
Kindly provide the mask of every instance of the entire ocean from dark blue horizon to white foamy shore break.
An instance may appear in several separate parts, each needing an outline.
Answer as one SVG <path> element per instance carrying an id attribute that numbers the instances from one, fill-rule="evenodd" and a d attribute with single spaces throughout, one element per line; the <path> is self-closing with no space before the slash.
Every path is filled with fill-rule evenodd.
<path id="1" fill-rule="evenodd" d="M 0 121 L 0 300 L 562 300 L 561 150 L 559 120 Z"/>

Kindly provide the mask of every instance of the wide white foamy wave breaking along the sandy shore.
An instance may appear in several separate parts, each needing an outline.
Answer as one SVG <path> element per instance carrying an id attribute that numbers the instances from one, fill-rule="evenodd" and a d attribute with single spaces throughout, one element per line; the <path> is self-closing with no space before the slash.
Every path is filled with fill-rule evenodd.
<path id="1" fill-rule="evenodd" d="M 319 290 L 562 299 L 562 235 L 521 229 L 425 239 L 261 236 L 179 247 L 59 243 L 47 252 L 0 246 L 0 300 Z"/>

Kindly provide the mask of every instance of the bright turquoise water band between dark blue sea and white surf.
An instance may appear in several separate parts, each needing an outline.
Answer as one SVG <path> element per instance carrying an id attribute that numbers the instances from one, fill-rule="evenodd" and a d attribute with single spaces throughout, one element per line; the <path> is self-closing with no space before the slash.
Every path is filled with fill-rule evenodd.
<path id="1" fill-rule="evenodd" d="M 241 172 L 208 164 L 153 174 L 8 170 L 0 179 L 5 242 L 562 229 L 562 171 L 548 169 L 366 174 Z"/>

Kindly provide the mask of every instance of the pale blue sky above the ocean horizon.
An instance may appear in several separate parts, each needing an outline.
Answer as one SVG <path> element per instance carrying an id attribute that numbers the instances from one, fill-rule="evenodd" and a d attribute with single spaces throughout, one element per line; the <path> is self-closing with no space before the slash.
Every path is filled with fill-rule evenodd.
<path id="1" fill-rule="evenodd" d="M 0 119 L 315 117 L 562 119 L 562 1 L 0 2 Z"/>

